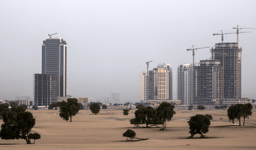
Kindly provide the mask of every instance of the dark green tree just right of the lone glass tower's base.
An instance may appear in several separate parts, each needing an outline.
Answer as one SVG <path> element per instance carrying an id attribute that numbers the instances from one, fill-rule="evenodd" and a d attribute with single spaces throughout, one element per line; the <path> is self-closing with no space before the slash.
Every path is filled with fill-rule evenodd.
<path id="1" fill-rule="evenodd" d="M 72 122 L 72 116 L 76 116 L 80 110 L 80 105 L 75 98 L 69 98 L 66 101 L 60 103 L 60 117 L 68 122 L 70 117 L 70 122 Z"/>

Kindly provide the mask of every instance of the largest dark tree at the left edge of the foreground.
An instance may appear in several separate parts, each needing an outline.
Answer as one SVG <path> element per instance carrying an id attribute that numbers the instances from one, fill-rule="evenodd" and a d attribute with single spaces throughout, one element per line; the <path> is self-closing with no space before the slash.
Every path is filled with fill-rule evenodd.
<path id="1" fill-rule="evenodd" d="M 0 137 L 4 140 L 24 139 L 27 144 L 31 144 L 29 136 L 30 131 L 36 124 L 35 118 L 32 113 L 26 112 L 24 107 L 12 107 L 3 115 L 3 124 L 1 125 Z M 36 133 L 36 135 L 40 135 Z M 33 139 L 39 139 L 36 136 Z"/>

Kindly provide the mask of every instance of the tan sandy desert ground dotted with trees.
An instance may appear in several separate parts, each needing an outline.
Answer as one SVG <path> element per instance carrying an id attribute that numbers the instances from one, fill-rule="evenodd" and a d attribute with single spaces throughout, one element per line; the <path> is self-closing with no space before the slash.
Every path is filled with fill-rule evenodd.
<path id="1" fill-rule="evenodd" d="M 25 140 L 2 140 L 1 150 L 255 150 L 256 149 L 256 112 L 245 122 L 245 126 L 230 126 L 226 111 L 208 111 L 213 120 L 206 139 L 187 139 L 189 134 L 188 120 L 195 114 L 206 114 L 206 111 L 176 111 L 176 115 L 167 123 L 165 131 L 159 128 L 136 128 L 129 120 L 134 118 L 130 113 L 124 116 L 122 111 L 104 110 L 95 115 L 90 111 L 80 111 L 66 122 L 58 111 L 32 111 L 36 125 L 32 132 L 41 134 L 35 144 L 26 144 Z M 57 115 L 54 115 L 56 113 Z M 220 119 L 222 118 L 222 119 Z M 238 120 L 235 121 L 238 123 Z M 2 119 L 0 120 L 2 124 Z M 143 141 L 126 141 L 122 134 L 132 129 L 138 138 L 150 138 Z M 33 142 L 34 140 L 32 140 Z"/>

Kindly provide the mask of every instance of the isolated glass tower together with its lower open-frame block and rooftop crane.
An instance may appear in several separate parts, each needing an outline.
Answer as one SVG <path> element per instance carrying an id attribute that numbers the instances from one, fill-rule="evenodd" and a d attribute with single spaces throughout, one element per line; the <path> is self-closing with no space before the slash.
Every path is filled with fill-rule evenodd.
<path id="1" fill-rule="evenodd" d="M 67 43 L 61 38 L 45 39 L 41 45 L 42 73 L 34 74 L 34 103 L 48 106 L 67 96 Z"/>

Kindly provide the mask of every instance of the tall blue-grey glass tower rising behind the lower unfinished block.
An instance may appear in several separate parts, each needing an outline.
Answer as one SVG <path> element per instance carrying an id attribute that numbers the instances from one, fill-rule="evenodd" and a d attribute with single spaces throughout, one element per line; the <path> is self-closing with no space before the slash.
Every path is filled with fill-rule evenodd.
<path id="1" fill-rule="evenodd" d="M 59 96 L 67 96 L 67 43 L 63 39 L 48 38 L 42 44 L 42 74 L 59 75 Z"/>

